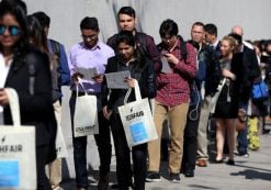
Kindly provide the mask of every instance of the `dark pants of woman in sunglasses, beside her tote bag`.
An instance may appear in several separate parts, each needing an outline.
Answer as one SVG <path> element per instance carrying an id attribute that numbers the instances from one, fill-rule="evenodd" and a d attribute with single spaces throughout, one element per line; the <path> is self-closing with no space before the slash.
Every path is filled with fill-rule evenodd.
<path id="1" fill-rule="evenodd" d="M 45 174 L 48 153 L 49 147 L 46 145 L 36 147 L 37 190 L 52 190 L 49 180 Z"/>

